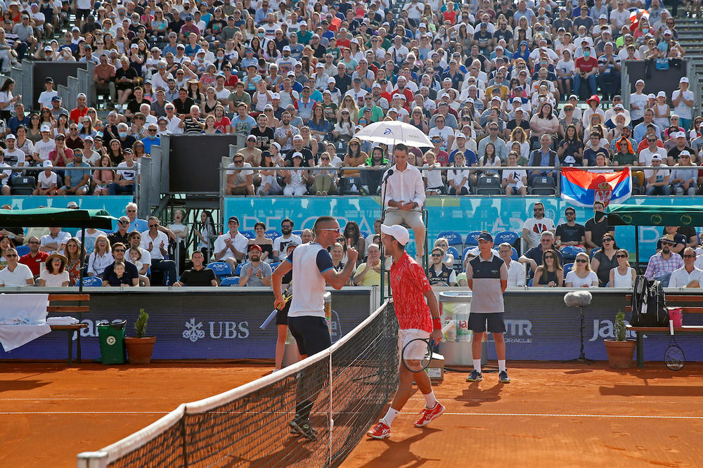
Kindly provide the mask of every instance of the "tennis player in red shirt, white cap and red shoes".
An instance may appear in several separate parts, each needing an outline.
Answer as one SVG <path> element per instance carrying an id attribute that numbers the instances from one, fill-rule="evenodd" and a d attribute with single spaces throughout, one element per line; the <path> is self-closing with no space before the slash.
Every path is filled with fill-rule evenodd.
<path id="1" fill-rule="evenodd" d="M 405 245 L 410 240 L 410 233 L 403 226 L 381 225 L 381 242 L 385 252 L 393 257 L 391 266 L 391 287 L 393 302 L 400 330 L 398 332 L 399 353 L 406 343 L 415 338 L 432 338 L 435 343 L 441 340 L 439 323 L 439 305 L 434 297 L 430 282 L 427 280 L 423 267 L 411 258 L 405 251 Z M 427 302 L 425 302 L 427 299 Z M 393 397 L 391 407 L 379 422 L 368 431 L 369 437 L 387 438 L 391 436 L 391 424 L 403 406 L 410 398 L 413 390 L 413 379 L 425 397 L 425 409 L 420 419 L 415 421 L 415 427 L 427 426 L 430 421 L 437 419 L 444 412 L 444 405 L 434 398 L 430 377 L 425 372 L 410 372 L 402 363 L 399 365 L 400 383 Z"/>

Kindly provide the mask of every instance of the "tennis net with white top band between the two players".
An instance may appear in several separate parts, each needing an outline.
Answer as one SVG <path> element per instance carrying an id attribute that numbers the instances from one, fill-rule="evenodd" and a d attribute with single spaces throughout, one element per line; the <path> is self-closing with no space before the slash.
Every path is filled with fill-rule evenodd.
<path id="1" fill-rule="evenodd" d="M 329 349 L 223 394 L 181 404 L 122 441 L 80 453 L 78 466 L 337 466 L 397 388 L 397 332 L 392 301 L 386 301 Z M 311 438 L 290 429 L 302 407 L 316 429 Z"/>

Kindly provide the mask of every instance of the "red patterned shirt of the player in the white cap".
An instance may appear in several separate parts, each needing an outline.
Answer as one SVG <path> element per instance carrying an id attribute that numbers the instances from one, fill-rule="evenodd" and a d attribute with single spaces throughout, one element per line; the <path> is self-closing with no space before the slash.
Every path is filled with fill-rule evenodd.
<path id="1" fill-rule="evenodd" d="M 432 332 L 430 306 L 423 295 L 432 287 L 423 267 L 408 252 L 391 266 L 391 288 L 399 327 Z"/>

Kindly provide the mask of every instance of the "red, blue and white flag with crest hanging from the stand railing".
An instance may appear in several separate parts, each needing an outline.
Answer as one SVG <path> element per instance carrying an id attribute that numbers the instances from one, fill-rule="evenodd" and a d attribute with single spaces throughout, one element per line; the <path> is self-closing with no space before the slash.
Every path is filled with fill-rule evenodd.
<path id="1" fill-rule="evenodd" d="M 562 199 L 581 207 L 593 207 L 595 202 L 622 203 L 632 194 L 630 168 L 612 173 L 585 171 L 577 167 L 562 167 Z"/>

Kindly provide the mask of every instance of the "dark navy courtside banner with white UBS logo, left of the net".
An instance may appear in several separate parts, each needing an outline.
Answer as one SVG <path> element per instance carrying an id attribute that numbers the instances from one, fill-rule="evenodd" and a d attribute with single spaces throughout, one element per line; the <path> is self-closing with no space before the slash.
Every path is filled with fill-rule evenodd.
<path id="1" fill-rule="evenodd" d="M 148 336 L 157 337 L 154 359 L 273 359 L 276 324 L 259 330 L 273 309 L 273 293 L 226 289 L 91 292 L 91 312 L 82 320 L 88 324 L 81 332 L 83 359 L 100 356 L 98 323 L 126 319 L 127 336 L 134 336 L 140 308 L 150 315 Z M 336 342 L 368 317 L 370 289 L 332 292 L 332 309 Z M 65 359 L 66 348 L 65 332 L 51 332 L 11 352 L 0 352 L 0 359 Z"/>

